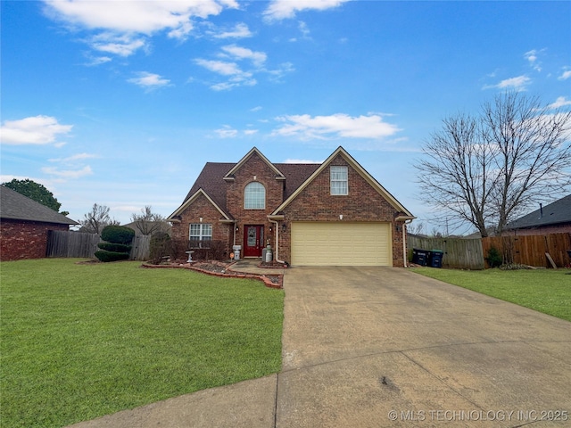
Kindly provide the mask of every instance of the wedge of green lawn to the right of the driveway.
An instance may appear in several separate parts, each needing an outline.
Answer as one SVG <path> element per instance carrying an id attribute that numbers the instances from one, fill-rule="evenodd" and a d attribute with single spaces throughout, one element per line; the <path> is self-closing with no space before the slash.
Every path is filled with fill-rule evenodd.
<path id="1" fill-rule="evenodd" d="M 413 268 L 413 272 L 459 285 L 525 308 L 571 321 L 569 269 L 454 270 Z"/>

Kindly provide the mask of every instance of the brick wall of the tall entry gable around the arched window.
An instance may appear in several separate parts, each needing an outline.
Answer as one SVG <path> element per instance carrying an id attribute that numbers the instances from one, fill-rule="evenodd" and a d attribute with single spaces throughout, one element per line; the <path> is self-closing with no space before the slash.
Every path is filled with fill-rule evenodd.
<path id="1" fill-rule="evenodd" d="M 254 178 L 255 177 L 255 178 Z M 266 188 L 265 210 L 244 210 L 244 187 L 253 181 L 261 183 Z M 228 182 L 227 207 L 230 214 L 238 219 L 238 233 L 236 245 L 244 248 L 244 225 L 263 225 L 265 229 L 264 241 L 269 239 L 274 246 L 274 234 L 269 232 L 273 224 L 269 222 L 268 215 L 284 202 L 284 183 L 276 179 L 276 172 L 269 165 L 253 153 L 250 159 L 236 171 L 233 182 Z"/>

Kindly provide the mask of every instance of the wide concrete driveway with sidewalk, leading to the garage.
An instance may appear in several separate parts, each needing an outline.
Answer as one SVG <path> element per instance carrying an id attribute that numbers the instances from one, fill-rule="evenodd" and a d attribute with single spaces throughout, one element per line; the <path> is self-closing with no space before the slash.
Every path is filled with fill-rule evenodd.
<path id="1" fill-rule="evenodd" d="M 73 426 L 529 423 L 571 426 L 571 323 L 405 269 L 291 268 L 280 374 Z"/>

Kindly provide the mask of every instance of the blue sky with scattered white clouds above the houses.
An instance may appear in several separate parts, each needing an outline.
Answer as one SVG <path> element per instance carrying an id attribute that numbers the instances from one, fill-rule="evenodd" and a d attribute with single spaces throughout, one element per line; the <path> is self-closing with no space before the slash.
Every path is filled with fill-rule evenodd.
<path id="1" fill-rule="evenodd" d="M 571 104 L 571 2 L 3 1 L 1 180 L 79 219 L 168 216 L 207 161 L 342 145 L 426 223 L 412 167 L 503 90 Z M 550 201 L 548 201 L 550 202 Z"/>

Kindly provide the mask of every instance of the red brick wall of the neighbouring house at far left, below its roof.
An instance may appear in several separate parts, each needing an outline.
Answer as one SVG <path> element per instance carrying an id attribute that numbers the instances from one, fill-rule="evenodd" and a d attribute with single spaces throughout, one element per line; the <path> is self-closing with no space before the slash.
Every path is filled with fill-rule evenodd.
<path id="1" fill-rule="evenodd" d="M 0 260 L 46 257 L 47 231 L 69 230 L 68 225 L 3 218 L 0 222 Z"/>

